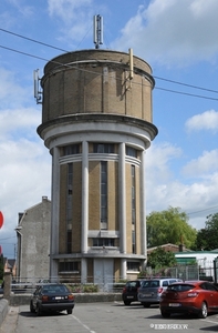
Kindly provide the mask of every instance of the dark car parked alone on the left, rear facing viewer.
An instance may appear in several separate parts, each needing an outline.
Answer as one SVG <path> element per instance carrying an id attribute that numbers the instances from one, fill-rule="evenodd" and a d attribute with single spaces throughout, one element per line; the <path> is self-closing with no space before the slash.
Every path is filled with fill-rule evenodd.
<path id="1" fill-rule="evenodd" d="M 73 312 L 74 296 L 66 285 L 61 283 L 45 283 L 39 285 L 30 300 L 30 311 L 40 315 L 42 312 L 66 311 Z"/>

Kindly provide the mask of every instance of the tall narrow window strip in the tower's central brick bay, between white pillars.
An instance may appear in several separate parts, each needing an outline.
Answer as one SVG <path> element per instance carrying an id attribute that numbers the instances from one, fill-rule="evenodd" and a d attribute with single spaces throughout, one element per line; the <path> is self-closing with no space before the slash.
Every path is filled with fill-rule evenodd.
<path id="1" fill-rule="evenodd" d="M 107 229 L 107 162 L 101 162 L 101 229 Z"/>

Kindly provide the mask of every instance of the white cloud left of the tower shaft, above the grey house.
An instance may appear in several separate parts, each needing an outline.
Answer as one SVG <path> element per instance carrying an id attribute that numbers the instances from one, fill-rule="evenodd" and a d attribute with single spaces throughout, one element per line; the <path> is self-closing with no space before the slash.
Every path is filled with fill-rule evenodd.
<path id="1" fill-rule="evenodd" d="M 49 152 L 42 142 L 27 139 L 0 142 L 0 210 L 6 214 L 4 232 L 17 223 L 18 212 L 50 196 Z"/>

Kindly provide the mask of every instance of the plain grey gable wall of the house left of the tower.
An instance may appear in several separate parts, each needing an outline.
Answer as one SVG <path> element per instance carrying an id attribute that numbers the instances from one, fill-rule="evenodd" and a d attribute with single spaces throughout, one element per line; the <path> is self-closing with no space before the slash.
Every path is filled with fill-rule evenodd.
<path id="1" fill-rule="evenodd" d="M 18 281 L 38 282 L 49 279 L 50 269 L 51 201 L 42 196 L 42 202 L 19 213 L 15 229 L 18 238 Z"/>

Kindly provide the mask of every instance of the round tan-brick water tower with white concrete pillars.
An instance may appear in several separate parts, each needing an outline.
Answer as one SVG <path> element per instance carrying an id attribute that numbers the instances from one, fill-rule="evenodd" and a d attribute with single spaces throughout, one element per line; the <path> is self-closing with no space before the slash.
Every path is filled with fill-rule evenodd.
<path id="1" fill-rule="evenodd" d="M 38 133 L 52 155 L 51 276 L 110 282 L 145 265 L 154 84 L 149 64 L 124 52 L 46 63 Z"/>

